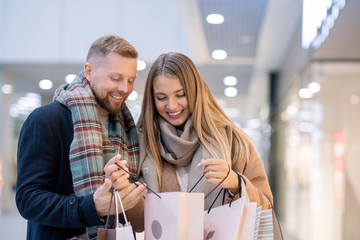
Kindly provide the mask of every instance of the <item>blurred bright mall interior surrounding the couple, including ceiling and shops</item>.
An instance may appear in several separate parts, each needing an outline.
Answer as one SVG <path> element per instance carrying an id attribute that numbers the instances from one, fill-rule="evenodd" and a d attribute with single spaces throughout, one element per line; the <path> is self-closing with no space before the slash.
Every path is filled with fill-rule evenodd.
<path id="1" fill-rule="evenodd" d="M 156 57 L 188 55 L 253 140 L 284 239 L 360 239 L 359 12 L 359 0 L 0 0 L 0 239 L 26 236 L 14 202 L 24 120 L 109 33 L 139 52 L 135 119 Z"/>

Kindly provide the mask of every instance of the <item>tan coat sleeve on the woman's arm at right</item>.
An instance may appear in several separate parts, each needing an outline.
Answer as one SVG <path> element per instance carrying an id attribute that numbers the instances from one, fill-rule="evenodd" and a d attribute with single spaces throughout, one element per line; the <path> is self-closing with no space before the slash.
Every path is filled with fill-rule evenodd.
<path id="1" fill-rule="evenodd" d="M 246 162 L 243 159 L 233 159 L 232 168 L 245 181 L 250 202 L 257 202 L 257 206 L 262 206 L 262 209 L 270 209 L 273 204 L 273 196 L 264 164 L 253 145 L 250 145 L 249 148 L 249 160 Z"/>

